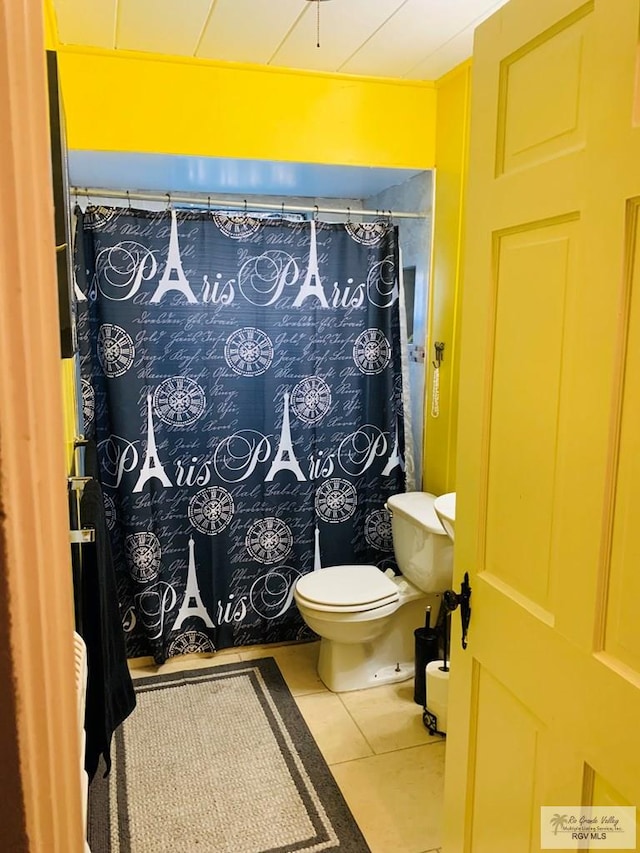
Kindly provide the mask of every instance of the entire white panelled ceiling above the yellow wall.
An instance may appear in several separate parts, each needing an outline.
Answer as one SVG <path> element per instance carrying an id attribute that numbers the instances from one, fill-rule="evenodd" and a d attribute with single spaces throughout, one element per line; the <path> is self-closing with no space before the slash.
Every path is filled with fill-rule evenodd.
<path id="1" fill-rule="evenodd" d="M 467 59 L 505 2 L 53 0 L 62 44 L 412 80 Z"/>

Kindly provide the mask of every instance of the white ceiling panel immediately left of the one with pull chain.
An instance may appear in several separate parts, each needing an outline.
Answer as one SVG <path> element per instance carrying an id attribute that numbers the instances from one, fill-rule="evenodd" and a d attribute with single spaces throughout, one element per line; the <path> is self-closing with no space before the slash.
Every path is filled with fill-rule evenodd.
<path id="1" fill-rule="evenodd" d="M 301 0 L 218 0 L 198 46 L 201 59 L 267 63 L 296 20 Z"/>

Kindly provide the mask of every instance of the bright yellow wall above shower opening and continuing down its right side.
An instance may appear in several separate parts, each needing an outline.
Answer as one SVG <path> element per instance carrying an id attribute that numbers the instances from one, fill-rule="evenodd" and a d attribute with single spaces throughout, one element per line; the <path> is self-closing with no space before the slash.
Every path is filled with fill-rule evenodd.
<path id="1" fill-rule="evenodd" d="M 64 46 L 58 58 L 70 148 L 436 166 L 424 487 L 453 488 L 470 63 L 434 84 Z M 437 420 L 436 340 L 446 344 Z"/>

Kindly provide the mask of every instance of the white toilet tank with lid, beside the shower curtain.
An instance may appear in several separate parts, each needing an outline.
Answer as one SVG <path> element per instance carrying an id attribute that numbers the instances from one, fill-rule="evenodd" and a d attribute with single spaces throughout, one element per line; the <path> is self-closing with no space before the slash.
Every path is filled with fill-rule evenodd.
<path id="1" fill-rule="evenodd" d="M 386 504 L 398 568 L 423 592 L 449 589 L 453 575 L 453 543 L 435 513 L 434 499 L 429 492 L 405 492 Z"/>

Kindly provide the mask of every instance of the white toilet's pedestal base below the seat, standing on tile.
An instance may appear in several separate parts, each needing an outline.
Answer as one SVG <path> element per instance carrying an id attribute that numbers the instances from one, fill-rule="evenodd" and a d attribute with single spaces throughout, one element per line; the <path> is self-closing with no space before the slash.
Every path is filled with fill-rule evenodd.
<path id="1" fill-rule="evenodd" d="M 424 624 L 425 605 L 437 613 L 439 595 L 422 595 L 400 608 L 389 629 L 373 642 L 320 640 L 318 675 L 333 693 L 365 690 L 407 681 L 414 676 L 413 629 Z"/>

